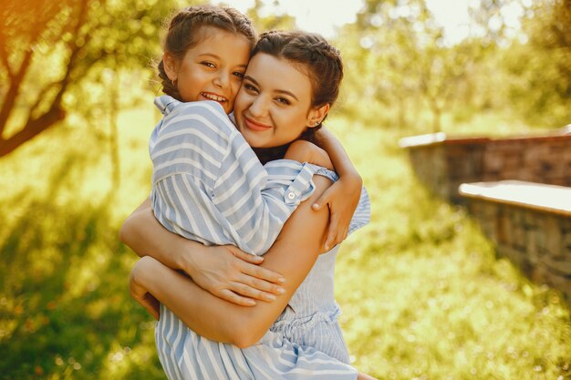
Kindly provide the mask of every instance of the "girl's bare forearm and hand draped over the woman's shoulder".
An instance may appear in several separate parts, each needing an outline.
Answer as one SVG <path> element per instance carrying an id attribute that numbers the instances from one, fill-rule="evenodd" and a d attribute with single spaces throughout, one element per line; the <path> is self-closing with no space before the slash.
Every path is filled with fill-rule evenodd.
<path id="1" fill-rule="evenodd" d="M 316 140 L 317 145 L 327 151 L 339 175 L 339 180 L 313 205 L 313 209 L 318 211 L 327 204 L 331 212 L 325 242 L 327 251 L 347 237 L 349 222 L 357 209 L 363 180 L 339 140 L 330 131 L 325 128 L 317 130 Z"/>

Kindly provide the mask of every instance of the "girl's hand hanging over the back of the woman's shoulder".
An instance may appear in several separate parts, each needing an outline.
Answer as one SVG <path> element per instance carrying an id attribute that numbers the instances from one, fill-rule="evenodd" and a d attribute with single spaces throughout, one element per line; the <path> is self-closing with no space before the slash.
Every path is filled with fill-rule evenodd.
<path id="1" fill-rule="evenodd" d="M 327 189 L 312 205 L 313 210 L 329 207 L 329 227 L 324 244 L 325 252 L 347 238 L 349 223 L 358 206 L 363 180 L 360 176 L 343 176 Z"/>

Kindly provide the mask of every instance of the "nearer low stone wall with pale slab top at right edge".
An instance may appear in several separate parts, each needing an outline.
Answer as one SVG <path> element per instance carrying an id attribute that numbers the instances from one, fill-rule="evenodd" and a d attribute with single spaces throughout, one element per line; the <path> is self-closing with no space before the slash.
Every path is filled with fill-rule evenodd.
<path id="1" fill-rule="evenodd" d="M 500 180 L 458 192 L 500 255 L 571 301 L 571 188 Z"/>

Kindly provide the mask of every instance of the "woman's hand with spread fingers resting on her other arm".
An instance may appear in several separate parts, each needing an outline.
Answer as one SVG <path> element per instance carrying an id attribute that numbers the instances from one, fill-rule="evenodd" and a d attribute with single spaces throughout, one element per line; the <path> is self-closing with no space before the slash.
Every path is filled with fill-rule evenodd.
<path id="1" fill-rule="evenodd" d="M 271 302 L 285 293 L 280 286 L 285 282 L 283 276 L 258 265 L 262 257 L 232 245 L 204 249 L 192 256 L 188 274 L 205 291 L 242 306 L 254 306 L 254 300 Z"/>

